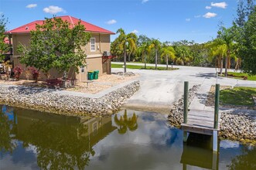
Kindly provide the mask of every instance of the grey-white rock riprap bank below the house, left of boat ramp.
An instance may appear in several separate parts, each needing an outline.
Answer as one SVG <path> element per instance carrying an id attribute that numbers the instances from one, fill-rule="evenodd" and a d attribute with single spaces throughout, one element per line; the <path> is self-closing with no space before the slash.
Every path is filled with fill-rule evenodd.
<path id="1" fill-rule="evenodd" d="M 134 81 L 99 98 L 53 93 L 44 88 L 0 87 L 0 103 L 56 114 L 106 115 L 119 110 L 139 87 L 139 81 Z"/>

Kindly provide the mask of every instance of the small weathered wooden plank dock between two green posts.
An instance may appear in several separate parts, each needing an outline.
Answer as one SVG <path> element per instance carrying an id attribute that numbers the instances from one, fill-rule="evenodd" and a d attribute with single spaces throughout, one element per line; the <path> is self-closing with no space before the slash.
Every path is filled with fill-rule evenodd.
<path id="1" fill-rule="evenodd" d="M 218 120 L 220 120 L 220 115 Z M 186 132 L 213 135 L 213 131 L 219 131 L 219 124 L 217 129 L 214 128 L 213 111 L 189 110 L 187 121 L 181 124 L 181 128 Z"/>

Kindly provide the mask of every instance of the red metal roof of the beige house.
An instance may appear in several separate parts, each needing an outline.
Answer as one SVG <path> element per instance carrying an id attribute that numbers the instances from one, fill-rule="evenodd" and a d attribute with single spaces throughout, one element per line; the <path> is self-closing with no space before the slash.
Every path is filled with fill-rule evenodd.
<path id="1" fill-rule="evenodd" d="M 70 22 L 71 27 L 73 27 L 74 25 L 76 25 L 79 22 L 79 19 L 74 18 L 73 16 L 69 16 L 69 15 L 59 16 L 57 18 L 61 18 L 61 19 L 63 19 L 63 21 Z M 24 26 L 20 26 L 16 29 L 12 29 L 12 30 L 10 30 L 8 32 L 5 32 L 5 33 L 7 33 L 7 34 L 9 34 L 9 33 L 29 33 L 30 31 L 36 29 L 36 24 L 43 25 L 43 22 L 44 22 L 44 20 L 37 20 L 37 21 L 34 21 L 34 22 L 30 22 L 30 23 L 28 23 Z M 93 24 L 90 24 L 88 22 L 84 22 L 83 20 L 81 20 L 81 24 L 84 25 L 85 31 L 87 31 L 87 32 L 114 34 L 114 32 L 108 31 L 107 29 L 102 29 L 99 26 L 94 26 Z"/>

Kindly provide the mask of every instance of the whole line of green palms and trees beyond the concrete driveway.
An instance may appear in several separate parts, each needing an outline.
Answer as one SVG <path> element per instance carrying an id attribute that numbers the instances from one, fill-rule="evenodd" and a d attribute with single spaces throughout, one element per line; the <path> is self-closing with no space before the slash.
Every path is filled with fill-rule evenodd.
<path id="1" fill-rule="evenodd" d="M 137 36 L 124 29 L 118 29 L 118 37 L 111 43 L 112 55 L 116 61 L 136 61 L 186 65 L 215 66 L 225 76 L 230 68 L 241 69 L 245 73 L 256 74 L 256 7 L 255 0 L 240 0 L 237 5 L 237 18 L 233 26 L 226 28 L 220 24 L 217 37 L 209 42 L 196 43 L 181 40 L 160 42 L 145 35 Z"/>

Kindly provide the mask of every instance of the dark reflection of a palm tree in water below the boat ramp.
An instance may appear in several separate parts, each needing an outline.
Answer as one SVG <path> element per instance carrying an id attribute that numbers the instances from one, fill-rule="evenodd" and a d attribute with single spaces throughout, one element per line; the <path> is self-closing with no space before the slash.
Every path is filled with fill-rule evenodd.
<path id="1" fill-rule="evenodd" d="M 118 119 L 118 115 L 114 115 L 114 122 L 119 126 L 118 133 L 119 134 L 125 134 L 127 129 L 129 131 L 136 131 L 138 128 L 137 123 L 138 116 L 136 116 L 135 112 L 132 114 L 132 117 L 127 116 L 127 110 L 125 110 L 125 113 L 123 116 Z"/>

